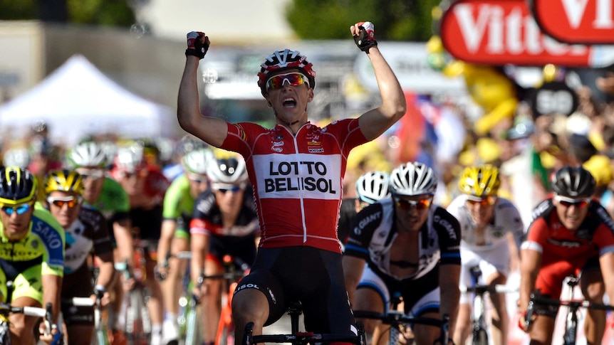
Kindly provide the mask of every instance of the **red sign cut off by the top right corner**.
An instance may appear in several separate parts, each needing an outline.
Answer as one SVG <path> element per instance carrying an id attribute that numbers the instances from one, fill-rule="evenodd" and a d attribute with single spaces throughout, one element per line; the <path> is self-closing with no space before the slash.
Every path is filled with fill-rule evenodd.
<path id="1" fill-rule="evenodd" d="M 531 0 L 544 33 L 566 43 L 614 43 L 614 0 Z"/>

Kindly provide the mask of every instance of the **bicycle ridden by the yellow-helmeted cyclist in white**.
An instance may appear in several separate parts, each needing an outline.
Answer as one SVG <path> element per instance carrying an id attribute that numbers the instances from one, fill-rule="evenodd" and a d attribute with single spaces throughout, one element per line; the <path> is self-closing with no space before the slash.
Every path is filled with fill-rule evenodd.
<path id="1" fill-rule="evenodd" d="M 488 345 L 488 326 L 486 324 L 486 302 L 484 295 L 516 292 L 516 289 L 511 289 L 506 285 L 482 285 L 479 284 L 480 277 L 482 277 L 482 270 L 479 267 L 472 267 L 469 272 L 472 276 L 472 287 L 461 287 L 461 292 L 473 292 L 473 306 L 472 306 L 472 344 L 473 345 Z"/>

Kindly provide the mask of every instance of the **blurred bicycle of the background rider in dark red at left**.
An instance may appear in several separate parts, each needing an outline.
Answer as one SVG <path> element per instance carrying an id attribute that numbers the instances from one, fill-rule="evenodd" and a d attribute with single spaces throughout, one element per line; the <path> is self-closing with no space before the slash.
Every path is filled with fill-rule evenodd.
<path id="1" fill-rule="evenodd" d="M 136 252 L 135 252 L 135 255 Z M 138 255 L 135 262 L 139 262 Z M 142 275 L 133 275 L 128 270 L 128 262 L 115 262 L 115 270 L 121 271 L 127 280 L 134 280 L 135 286 L 128 292 L 122 305 L 122 314 L 125 317 L 125 336 L 130 345 L 147 345 L 151 324 L 147 300 L 145 298 L 145 285 L 142 283 Z M 135 270 L 138 272 L 140 270 Z M 143 273 L 144 274 L 144 273 Z"/>

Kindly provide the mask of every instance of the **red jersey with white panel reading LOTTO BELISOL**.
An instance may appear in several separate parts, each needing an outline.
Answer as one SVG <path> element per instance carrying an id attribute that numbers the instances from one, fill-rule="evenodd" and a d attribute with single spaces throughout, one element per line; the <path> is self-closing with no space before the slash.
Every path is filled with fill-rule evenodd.
<path id="1" fill-rule="evenodd" d="M 307 245 L 340 253 L 337 239 L 348 154 L 367 142 L 358 119 L 326 127 L 228 124 L 222 149 L 243 155 L 261 228 L 262 248 Z"/>

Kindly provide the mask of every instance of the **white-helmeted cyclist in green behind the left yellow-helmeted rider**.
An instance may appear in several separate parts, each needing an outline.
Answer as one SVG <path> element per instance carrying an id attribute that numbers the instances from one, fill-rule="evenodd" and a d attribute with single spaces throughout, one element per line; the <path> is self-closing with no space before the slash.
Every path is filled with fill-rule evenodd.
<path id="1" fill-rule="evenodd" d="M 134 267 L 135 250 L 132 240 L 132 223 L 130 221 L 130 201 L 128 193 L 114 179 L 107 176 L 110 162 L 103 144 L 82 142 L 68 153 L 75 170 L 83 178 L 83 201 L 102 212 L 107 220 L 109 235 L 115 247 L 114 262 L 128 261 Z M 108 326 L 111 329 L 110 341 L 113 345 L 125 343 L 125 334 L 121 331 L 119 314 L 122 306 L 124 289 L 121 284 L 121 272 L 115 271 L 111 302 L 108 314 Z"/>

